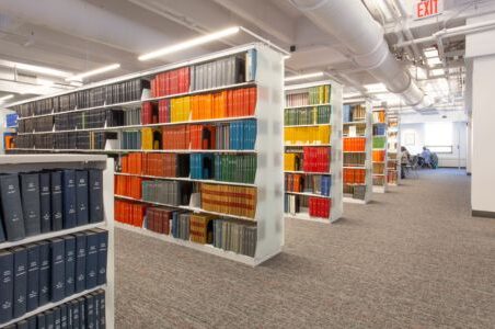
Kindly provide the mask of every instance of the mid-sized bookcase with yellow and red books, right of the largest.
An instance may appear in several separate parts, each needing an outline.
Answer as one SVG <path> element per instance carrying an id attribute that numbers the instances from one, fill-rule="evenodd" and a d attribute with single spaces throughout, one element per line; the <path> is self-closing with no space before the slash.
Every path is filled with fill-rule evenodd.
<path id="1" fill-rule="evenodd" d="M 333 223 L 342 216 L 342 87 L 334 81 L 285 88 L 286 217 Z"/>

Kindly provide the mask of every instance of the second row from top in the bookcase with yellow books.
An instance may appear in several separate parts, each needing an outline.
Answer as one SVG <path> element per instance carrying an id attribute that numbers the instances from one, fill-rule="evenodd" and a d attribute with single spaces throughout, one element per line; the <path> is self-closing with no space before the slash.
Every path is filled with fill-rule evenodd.
<path id="1" fill-rule="evenodd" d="M 302 109 L 285 109 L 284 124 L 286 126 L 330 124 L 332 107 L 309 106 Z"/>

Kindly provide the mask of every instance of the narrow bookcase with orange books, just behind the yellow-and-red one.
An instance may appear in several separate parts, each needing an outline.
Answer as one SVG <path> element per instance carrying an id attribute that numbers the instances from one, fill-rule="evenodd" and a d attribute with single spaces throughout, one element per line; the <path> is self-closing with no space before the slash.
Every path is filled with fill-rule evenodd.
<path id="1" fill-rule="evenodd" d="M 367 204 L 372 193 L 372 105 L 367 100 L 344 102 L 344 202 Z"/>

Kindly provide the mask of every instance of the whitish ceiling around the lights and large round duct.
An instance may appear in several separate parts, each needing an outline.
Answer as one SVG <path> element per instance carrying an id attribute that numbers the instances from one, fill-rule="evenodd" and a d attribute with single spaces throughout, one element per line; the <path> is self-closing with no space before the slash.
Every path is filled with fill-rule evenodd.
<path id="1" fill-rule="evenodd" d="M 422 21 L 401 18 L 396 3 L 401 2 L 411 14 L 413 0 L 362 2 L 383 25 L 391 50 L 415 78 L 423 80 L 424 89 L 436 88 L 431 87 L 435 84 L 431 71 L 439 69 L 444 72 L 441 77 L 446 76 L 441 83 L 449 87 L 448 101 L 451 101 L 450 93 L 462 98 L 463 36 L 446 38 L 444 53 L 435 65 L 426 63 L 424 53 L 437 48 L 435 43 L 417 45 L 416 53 L 410 47 L 399 47 L 396 43 L 404 41 L 406 27 L 413 38 L 429 36 L 445 26 L 464 25 L 471 15 L 493 11 L 495 1 L 445 0 L 442 15 Z M 118 70 L 87 79 L 87 83 L 254 41 L 252 36 L 239 34 L 159 60 L 137 59 L 140 54 L 233 25 L 246 27 L 285 49 L 295 46 L 296 50 L 286 60 L 287 75 L 323 70 L 345 83 L 347 93 L 384 94 L 379 87 L 364 88 L 378 81 L 355 65 L 348 50 L 335 37 L 320 30 L 288 0 L 2 0 L 0 98 L 13 94 L 9 102 L 19 101 L 72 88 L 64 78 L 13 69 L 2 65 L 5 60 L 69 73 L 120 64 Z M 383 95 L 381 100 L 385 98 L 399 102 L 391 95 Z"/>

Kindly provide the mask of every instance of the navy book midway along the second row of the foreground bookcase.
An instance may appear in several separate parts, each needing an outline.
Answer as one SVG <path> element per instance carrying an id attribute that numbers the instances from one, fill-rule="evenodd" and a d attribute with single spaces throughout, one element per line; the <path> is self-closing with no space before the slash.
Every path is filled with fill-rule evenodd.
<path id="1" fill-rule="evenodd" d="M 66 292 L 65 241 L 64 239 L 50 239 L 50 296 L 51 302 L 64 299 Z"/>

